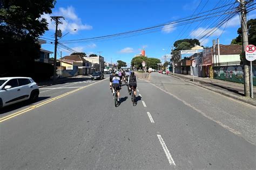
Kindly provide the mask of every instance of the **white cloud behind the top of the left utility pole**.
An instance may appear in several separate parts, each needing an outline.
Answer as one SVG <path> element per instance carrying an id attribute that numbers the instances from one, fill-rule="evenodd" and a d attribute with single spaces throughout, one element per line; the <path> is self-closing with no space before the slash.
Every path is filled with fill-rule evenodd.
<path id="1" fill-rule="evenodd" d="M 82 20 L 76 15 L 75 9 L 72 6 L 68 8 L 59 8 L 58 11 L 53 11 L 52 14 L 44 14 L 41 18 L 45 18 L 49 23 L 49 30 L 55 31 L 55 22 L 51 21 L 50 16 L 63 16 L 65 18 L 61 19 L 63 24 L 59 24 L 58 28 L 64 31 L 69 31 L 71 34 L 77 33 L 79 30 L 91 30 L 92 26 L 83 24 Z M 76 29 L 77 31 L 73 31 Z"/>

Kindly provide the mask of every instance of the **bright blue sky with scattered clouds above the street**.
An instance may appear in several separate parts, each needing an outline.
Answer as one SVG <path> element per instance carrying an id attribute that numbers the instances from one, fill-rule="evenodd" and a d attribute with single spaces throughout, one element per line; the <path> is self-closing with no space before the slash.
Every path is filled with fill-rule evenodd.
<path id="1" fill-rule="evenodd" d="M 201 3 L 196 0 L 57 0 L 52 14 L 43 16 L 48 19 L 50 29 L 46 31 L 43 37 L 53 39 L 55 26 L 50 21 L 50 16 L 65 17 L 63 24 L 59 25 L 59 29 L 62 30 L 63 35 L 68 32 L 69 34 L 62 40 L 72 40 L 137 30 L 188 17 L 193 13 L 196 16 L 200 11 L 213 9 L 216 4 L 232 2 L 235 0 L 221 0 L 220 2 L 202 0 Z M 256 18 L 256 12 L 249 13 L 248 18 Z M 104 41 L 80 41 L 65 45 L 75 49 L 75 51 L 85 52 L 87 55 L 98 54 L 97 52 L 101 51 L 107 62 L 110 62 L 111 59 L 113 63 L 117 60 L 123 60 L 128 64 L 144 46 L 147 56 L 163 60 L 162 56 L 170 53 L 173 41 L 196 38 L 198 33 L 214 28 L 214 26 L 208 27 L 210 24 L 211 22 L 194 22 L 184 26 L 172 25 L 160 28 L 157 32 L 140 36 Z M 240 20 L 237 15 L 215 31 L 212 36 L 202 39 L 204 41 L 201 44 L 211 46 L 212 40 L 218 37 L 221 44 L 230 44 L 231 40 L 237 37 L 238 27 L 240 27 Z M 72 31 L 73 29 L 77 31 Z M 44 44 L 42 48 L 54 51 L 52 44 Z M 63 56 L 70 54 L 66 49 L 59 47 L 57 58 L 59 58 L 60 51 L 62 51 Z"/>

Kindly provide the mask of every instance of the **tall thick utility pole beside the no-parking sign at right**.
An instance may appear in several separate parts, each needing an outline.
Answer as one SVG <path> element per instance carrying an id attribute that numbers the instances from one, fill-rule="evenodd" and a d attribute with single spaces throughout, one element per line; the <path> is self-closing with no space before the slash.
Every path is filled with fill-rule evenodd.
<path id="1" fill-rule="evenodd" d="M 250 97 L 250 78 L 249 78 L 249 66 L 248 61 L 245 58 L 245 49 L 248 45 L 248 33 L 247 33 L 247 20 L 246 20 L 246 1 L 240 0 L 241 10 L 241 29 L 242 29 L 242 56 L 244 65 L 244 91 L 245 97 Z"/>

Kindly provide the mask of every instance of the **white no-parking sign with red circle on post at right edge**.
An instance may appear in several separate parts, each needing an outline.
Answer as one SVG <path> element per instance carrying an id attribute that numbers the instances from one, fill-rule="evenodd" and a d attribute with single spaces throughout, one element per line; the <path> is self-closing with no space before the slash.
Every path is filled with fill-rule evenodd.
<path id="1" fill-rule="evenodd" d="M 245 58 L 250 61 L 250 79 L 251 79 L 251 98 L 253 98 L 253 77 L 252 77 L 252 61 L 256 60 L 256 48 L 254 45 L 249 44 L 245 48 Z"/>

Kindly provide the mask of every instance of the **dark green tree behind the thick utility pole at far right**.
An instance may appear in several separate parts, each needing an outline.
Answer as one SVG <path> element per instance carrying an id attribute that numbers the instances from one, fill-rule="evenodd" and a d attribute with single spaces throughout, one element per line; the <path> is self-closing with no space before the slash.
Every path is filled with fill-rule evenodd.
<path id="1" fill-rule="evenodd" d="M 249 44 L 256 44 L 256 19 L 250 19 L 247 22 L 247 29 L 248 29 L 248 42 Z M 241 27 L 237 30 L 238 37 L 234 38 L 231 41 L 231 44 L 239 44 L 242 45 L 242 29 Z"/>

